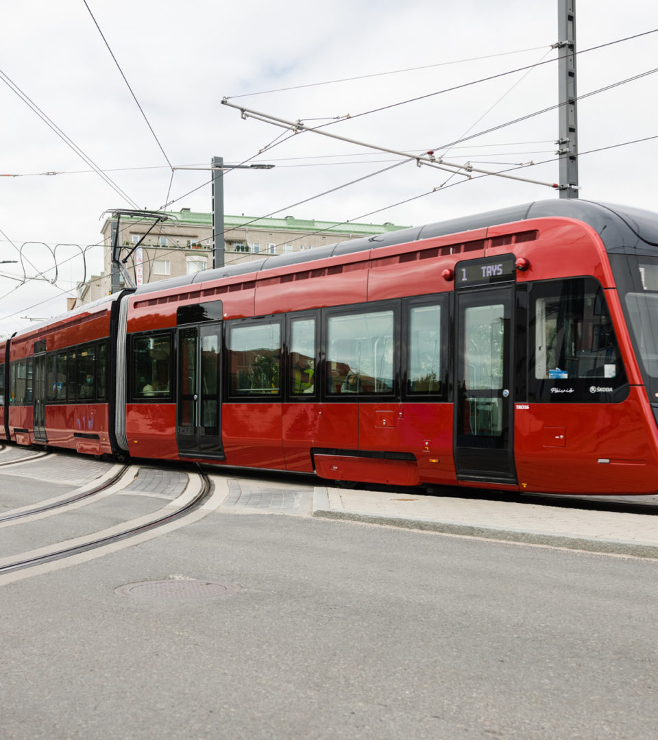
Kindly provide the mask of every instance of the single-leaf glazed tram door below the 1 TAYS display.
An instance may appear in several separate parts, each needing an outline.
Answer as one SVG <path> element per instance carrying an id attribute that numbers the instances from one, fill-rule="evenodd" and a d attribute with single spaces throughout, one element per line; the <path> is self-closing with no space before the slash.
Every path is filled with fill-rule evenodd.
<path id="1" fill-rule="evenodd" d="M 517 482 L 512 297 L 508 286 L 457 292 L 454 459 L 460 480 Z"/>

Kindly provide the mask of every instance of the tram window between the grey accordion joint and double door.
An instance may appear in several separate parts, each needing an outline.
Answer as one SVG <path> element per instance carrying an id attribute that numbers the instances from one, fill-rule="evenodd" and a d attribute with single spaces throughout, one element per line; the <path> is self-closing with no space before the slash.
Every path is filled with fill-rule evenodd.
<path id="1" fill-rule="evenodd" d="M 171 334 L 132 337 L 132 397 L 171 397 Z"/>

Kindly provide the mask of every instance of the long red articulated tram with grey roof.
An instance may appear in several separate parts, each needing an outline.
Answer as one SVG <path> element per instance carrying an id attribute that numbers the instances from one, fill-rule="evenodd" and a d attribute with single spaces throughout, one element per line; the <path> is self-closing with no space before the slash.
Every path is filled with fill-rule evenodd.
<path id="1" fill-rule="evenodd" d="M 0 378 L 19 444 L 655 494 L 658 215 L 538 201 L 150 283 L 0 344 Z"/>

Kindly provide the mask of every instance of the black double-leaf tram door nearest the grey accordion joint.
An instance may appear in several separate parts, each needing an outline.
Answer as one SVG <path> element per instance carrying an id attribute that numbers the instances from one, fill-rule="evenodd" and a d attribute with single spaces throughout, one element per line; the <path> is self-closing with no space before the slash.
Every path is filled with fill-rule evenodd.
<path id="1" fill-rule="evenodd" d="M 178 451 L 224 458 L 221 443 L 221 322 L 178 329 Z"/>

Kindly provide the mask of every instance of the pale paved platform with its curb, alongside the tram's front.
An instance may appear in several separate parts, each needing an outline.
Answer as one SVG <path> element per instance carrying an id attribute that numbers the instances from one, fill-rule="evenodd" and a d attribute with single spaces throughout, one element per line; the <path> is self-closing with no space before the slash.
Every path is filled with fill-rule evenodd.
<path id="1" fill-rule="evenodd" d="M 582 499 L 578 508 L 571 508 L 565 498 L 552 499 L 550 504 L 547 501 L 542 505 L 478 499 L 476 491 L 472 498 L 455 498 L 318 487 L 313 496 L 313 515 L 507 542 L 658 558 L 658 497 L 590 500 L 593 508 L 587 508 Z M 600 503 L 603 501 L 606 505 L 642 503 L 647 506 L 647 513 L 605 511 Z M 562 503 L 564 505 L 560 505 Z"/>

